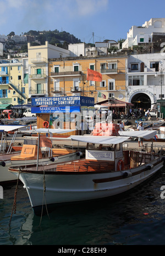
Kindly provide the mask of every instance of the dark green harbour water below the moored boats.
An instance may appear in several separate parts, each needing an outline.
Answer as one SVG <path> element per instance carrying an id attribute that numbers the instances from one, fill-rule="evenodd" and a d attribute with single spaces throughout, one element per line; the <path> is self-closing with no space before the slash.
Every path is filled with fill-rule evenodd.
<path id="1" fill-rule="evenodd" d="M 1 245 L 164 245 L 165 167 L 127 193 L 84 203 L 58 206 L 52 213 L 35 216 L 23 184 L 13 208 L 15 184 L 3 186 L 0 199 Z"/>

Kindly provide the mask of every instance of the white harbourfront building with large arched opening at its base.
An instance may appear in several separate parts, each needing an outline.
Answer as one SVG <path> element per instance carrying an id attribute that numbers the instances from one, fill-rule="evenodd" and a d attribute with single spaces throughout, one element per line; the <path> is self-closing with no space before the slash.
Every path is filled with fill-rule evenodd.
<path id="1" fill-rule="evenodd" d="M 127 101 L 143 108 L 165 99 L 165 53 L 128 56 Z"/>

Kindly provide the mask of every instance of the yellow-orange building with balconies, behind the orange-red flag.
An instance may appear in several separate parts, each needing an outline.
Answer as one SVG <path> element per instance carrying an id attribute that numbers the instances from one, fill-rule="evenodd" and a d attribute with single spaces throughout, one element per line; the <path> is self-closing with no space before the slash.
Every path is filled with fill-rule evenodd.
<path id="1" fill-rule="evenodd" d="M 108 98 L 125 101 L 126 56 L 74 57 L 49 60 L 49 96 L 81 95 L 102 101 Z M 87 81 L 87 68 L 102 74 L 102 81 Z"/>

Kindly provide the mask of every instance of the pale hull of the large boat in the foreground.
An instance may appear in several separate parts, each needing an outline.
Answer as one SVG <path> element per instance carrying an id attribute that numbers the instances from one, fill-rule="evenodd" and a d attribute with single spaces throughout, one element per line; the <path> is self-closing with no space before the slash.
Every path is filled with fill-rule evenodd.
<path id="1" fill-rule="evenodd" d="M 51 206 L 58 203 L 69 203 L 111 197 L 134 188 L 150 178 L 163 166 L 163 161 L 150 162 L 151 170 L 144 165 L 128 171 L 117 172 L 56 172 L 43 173 L 20 172 L 20 180 L 29 194 L 31 206 L 36 215 L 41 214 L 42 205 Z M 12 171 L 10 169 L 10 171 Z M 30 169 L 28 169 L 30 171 Z M 128 177 L 124 178 L 124 173 Z M 15 172 L 18 176 L 18 172 Z M 129 175 L 131 175 L 129 177 Z M 43 179 L 46 190 L 43 192 Z M 43 194 L 45 200 L 43 202 Z"/>

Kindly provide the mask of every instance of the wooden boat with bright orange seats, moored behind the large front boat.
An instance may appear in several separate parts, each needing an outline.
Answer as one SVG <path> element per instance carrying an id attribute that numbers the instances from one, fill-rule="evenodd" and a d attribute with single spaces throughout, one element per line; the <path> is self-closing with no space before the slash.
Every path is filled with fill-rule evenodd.
<path id="1" fill-rule="evenodd" d="M 32 164 L 48 165 L 52 162 L 67 162 L 80 159 L 81 152 L 78 150 L 59 148 L 53 149 L 51 132 L 47 133 L 50 134 L 50 138 L 48 138 L 46 135 L 42 135 L 45 133 L 45 130 L 40 130 L 40 132 L 38 132 L 37 129 L 29 131 L 19 130 L 14 133 L 14 139 L 19 133 L 21 135 L 24 133 L 34 134 L 34 137 L 25 137 L 24 145 L 18 154 L 7 154 L 3 156 L 3 160 L 1 162 L 0 183 L 11 182 L 17 179 L 17 177 L 15 177 L 12 173 L 8 172 L 9 166 L 28 166 Z M 61 133 L 61 131 L 59 131 L 59 133 Z M 36 134 L 38 134 L 38 136 L 41 135 L 39 144 Z M 10 149 L 12 149 L 14 139 L 11 141 Z"/>

